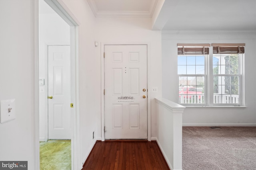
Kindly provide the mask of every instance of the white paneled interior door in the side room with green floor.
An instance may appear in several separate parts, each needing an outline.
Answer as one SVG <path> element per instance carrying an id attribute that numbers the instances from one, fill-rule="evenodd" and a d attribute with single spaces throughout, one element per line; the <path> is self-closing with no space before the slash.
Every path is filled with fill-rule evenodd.
<path id="1" fill-rule="evenodd" d="M 71 139 L 70 46 L 48 46 L 49 139 Z"/>

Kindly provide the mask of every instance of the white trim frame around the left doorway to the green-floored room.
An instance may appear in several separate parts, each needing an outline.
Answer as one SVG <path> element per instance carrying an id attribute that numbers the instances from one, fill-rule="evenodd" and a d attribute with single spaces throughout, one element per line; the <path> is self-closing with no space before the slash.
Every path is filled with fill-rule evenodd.
<path id="1" fill-rule="evenodd" d="M 70 25 L 70 76 L 71 76 L 71 102 L 74 103 L 74 108 L 71 109 L 72 115 L 72 137 L 71 137 L 71 152 L 72 152 L 72 170 L 80 169 L 82 162 L 81 153 L 80 153 L 80 124 L 79 124 L 79 84 L 78 84 L 78 26 L 80 25 L 79 21 L 74 17 L 72 12 L 67 8 L 67 6 L 62 2 L 62 0 L 44 0 L 64 21 Z M 35 16 L 38 16 L 38 0 L 35 2 Z M 35 18 L 35 44 L 39 45 L 38 39 L 38 22 Z M 35 45 L 35 46 L 36 46 Z M 38 56 L 38 49 L 35 47 L 35 56 L 36 56 L 36 63 L 35 63 L 35 87 L 36 87 L 36 116 L 35 116 L 35 133 L 36 138 L 35 141 L 39 141 L 39 56 Z M 36 169 L 39 169 L 40 166 L 40 158 L 39 158 L 39 142 L 36 145 L 36 162 L 35 166 Z"/>

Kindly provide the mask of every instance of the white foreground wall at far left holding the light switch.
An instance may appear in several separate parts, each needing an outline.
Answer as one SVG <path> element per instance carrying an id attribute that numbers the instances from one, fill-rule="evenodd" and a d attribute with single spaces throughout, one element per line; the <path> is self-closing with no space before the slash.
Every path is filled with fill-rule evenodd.
<path id="1" fill-rule="evenodd" d="M 0 160 L 28 161 L 35 170 L 36 0 L 0 0 L 0 100 L 16 99 L 16 119 L 0 123 Z"/>

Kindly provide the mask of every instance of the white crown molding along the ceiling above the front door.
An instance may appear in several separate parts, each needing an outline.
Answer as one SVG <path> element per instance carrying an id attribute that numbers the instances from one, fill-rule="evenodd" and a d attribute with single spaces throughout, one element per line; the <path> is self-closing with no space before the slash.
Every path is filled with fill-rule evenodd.
<path id="1" fill-rule="evenodd" d="M 140 17 L 151 18 L 154 14 L 158 0 L 152 0 L 148 11 L 100 11 L 94 0 L 87 0 L 95 17 Z"/>

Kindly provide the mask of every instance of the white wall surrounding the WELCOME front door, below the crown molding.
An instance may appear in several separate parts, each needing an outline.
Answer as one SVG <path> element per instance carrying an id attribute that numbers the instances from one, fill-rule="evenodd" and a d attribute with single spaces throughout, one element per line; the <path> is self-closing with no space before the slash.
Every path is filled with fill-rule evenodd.
<path id="1" fill-rule="evenodd" d="M 156 103 L 155 97 L 162 96 L 162 70 L 161 70 L 161 32 L 152 31 L 150 18 L 96 18 L 96 41 L 102 44 L 138 44 L 148 43 L 148 90 L 151 98 L 151 138 L 156 137 Z M 96 79 L 96 88 L 100 89 L 101 84 L 101 48 L 96 48 L 96 68 L 94 72 Z M 152 93 L 152 87 L 158 87 L 157 93 Z M 100 90 L 96 96 L 100 101 Z M 100 108 L 100 102 L 97 102 L 96 108 Z M 150 119 L 150 118 L 149 118 Z M 97 114 L 97 127 L 101 127 L 101 115 Z M 100 135 L 101 129 L 97 134 Z M 98 136 L 100 137 L 100 136 Z M 150 139 L 150 137 L 149 137 Z"/>

